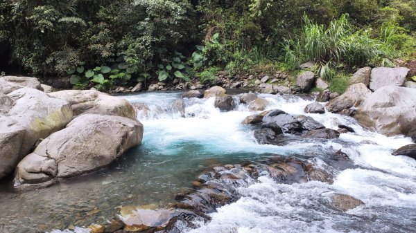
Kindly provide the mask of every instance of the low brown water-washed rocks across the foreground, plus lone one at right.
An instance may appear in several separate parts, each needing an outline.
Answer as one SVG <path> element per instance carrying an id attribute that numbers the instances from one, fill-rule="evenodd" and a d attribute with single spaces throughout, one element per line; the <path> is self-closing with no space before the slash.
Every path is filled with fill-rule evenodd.
<path id="1" fill-rule="evenodd" d="M 335 159 L 335 158 L 334 158 Z M 338 159 L 338 158 L 337 158 Z M 259 176 L 268 176 L 277 183 L 293 184 L 319 180 L 333 183 L 333 174 L 314 167 L 310 162 L 295 157 L 272 156 L 259 163 L 243 162 L 236 165 L 216 165 L 200 174 L 175 196 L 176 203 L 159 209 L 156 205 L 121 207 L 119 219 L 102 225 L 89 226 L 91 232 L 180 232 L 184 226 L 195 227 L 193 222 L 209 221 L 209 213 L 241 198 L 240 187 L 257 183 Z M 333 193 L 323 204 L 331 211 L 345 212 L 365 205 L 347 194 Z"/>

